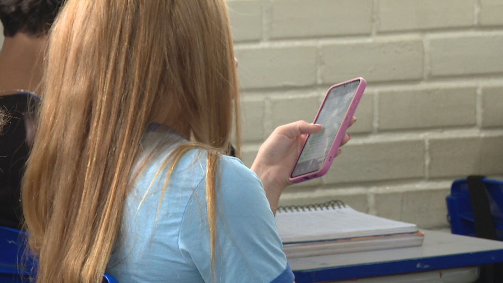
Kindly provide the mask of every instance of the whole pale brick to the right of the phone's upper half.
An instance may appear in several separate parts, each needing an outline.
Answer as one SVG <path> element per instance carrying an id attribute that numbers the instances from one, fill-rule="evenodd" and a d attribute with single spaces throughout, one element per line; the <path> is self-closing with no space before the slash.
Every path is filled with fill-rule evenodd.
<path id="1" fill-rule="evenodd" d="M 379 129 L 475 124 L 475 88 L 438 88 L 379 93 Z"/>

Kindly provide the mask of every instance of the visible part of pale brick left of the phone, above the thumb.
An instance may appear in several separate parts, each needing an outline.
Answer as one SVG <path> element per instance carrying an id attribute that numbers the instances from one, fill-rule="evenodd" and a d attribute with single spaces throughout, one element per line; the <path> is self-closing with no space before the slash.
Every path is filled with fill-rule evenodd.
<path id="1" fill-rule="evenodd" d="M 307 97 L 285 95 L 285 97 L 271 98 L 273 127 L 276 128 L 298 120 L 312 122 L 320 105 L 320 95 Z"/>

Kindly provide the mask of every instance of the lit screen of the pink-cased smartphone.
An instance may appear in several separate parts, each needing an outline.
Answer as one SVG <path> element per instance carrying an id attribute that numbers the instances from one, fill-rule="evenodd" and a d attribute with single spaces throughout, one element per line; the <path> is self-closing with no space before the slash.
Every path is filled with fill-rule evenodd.
<path id="1" fill-rule="evenodd" d="M 339 127 L 360 85 L 360 80 L 332 88 L 314 121 L 323 128 L 310 134 L 292 172 L 292 177 L 318 171 L 330 151 Z"/>

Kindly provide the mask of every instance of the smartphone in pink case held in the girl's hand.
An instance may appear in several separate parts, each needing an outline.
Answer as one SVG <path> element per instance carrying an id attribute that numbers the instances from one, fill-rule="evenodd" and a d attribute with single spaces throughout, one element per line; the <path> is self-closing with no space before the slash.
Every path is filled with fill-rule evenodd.
<path id="1" fill-rule="evenodd" d="M 323 127 L 307 136 L 290 181 L 300 183 L 325 175 L 339 150 L 367 82 L 356 78 L 331 86 L 314 118 Z"/>

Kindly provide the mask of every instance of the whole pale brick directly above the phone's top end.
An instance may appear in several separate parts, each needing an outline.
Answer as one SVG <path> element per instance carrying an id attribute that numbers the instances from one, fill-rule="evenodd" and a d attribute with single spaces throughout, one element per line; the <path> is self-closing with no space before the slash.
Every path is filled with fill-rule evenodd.
<path id="1" fill-rule="evenodd" d="M 368 82 L 421 79 L 423 43 L 414 38 L 327 44 L 322 46 L 322 64 L 326 84 L 356 77 Z"/>

